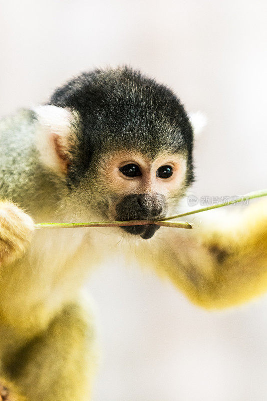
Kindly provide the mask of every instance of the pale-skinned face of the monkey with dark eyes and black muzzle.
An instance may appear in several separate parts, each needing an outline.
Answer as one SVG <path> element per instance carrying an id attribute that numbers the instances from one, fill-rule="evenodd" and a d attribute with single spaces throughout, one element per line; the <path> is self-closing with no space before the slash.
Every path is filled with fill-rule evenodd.
<path id="1" fill-rule="evenodd" d="M 181 155 L 151 159 L 141 153 L 118 151 L 106 155 L 100 165 L 103 187 L 114 194 L 110 197 L 109 218 L 117 221 L 165 217 L 169 198 L 180 193 L 186 176 L 186 160 Z M 153 237 L 158 229 L 157 225 L 122 227 L 143 239 Z"/>

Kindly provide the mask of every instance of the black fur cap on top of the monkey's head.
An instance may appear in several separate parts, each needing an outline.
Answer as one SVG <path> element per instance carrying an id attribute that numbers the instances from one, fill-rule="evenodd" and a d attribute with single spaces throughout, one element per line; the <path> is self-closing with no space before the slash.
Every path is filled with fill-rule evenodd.
<path id="1" fill-rule="evenodd" d="M 49 104 L 79 114 L 80 173 L 96 152 L 126 148 L 154 158 L 167 151 L 187 156 L 187 183 L 192 182 L 193 132 L 184 107 L 169 88 L 139 71 L 82 73 L 58 88 Z"/>

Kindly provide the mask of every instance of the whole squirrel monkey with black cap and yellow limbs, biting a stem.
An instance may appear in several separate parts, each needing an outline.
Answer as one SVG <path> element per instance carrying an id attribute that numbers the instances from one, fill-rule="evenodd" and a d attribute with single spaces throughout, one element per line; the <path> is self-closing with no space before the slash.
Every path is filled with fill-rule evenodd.
<path id="1" fill-rule="evenodd" d="M 112 252 L 137 257 L 205 308 L 267 289 L 266 202 L 234 225 L 190 231 L 35 229 L 176 213 L 194 178 L 192 148 L 174 93 L 127 67 L 83 73 L 0 122 L 0 399 L 90 399 L 98 345 L 82 287 Z"/>

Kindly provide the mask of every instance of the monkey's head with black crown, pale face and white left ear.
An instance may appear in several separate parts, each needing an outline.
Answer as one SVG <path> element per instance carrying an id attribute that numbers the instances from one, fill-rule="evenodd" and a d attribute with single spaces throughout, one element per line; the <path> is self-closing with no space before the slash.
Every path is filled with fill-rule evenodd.
<path id="1" fill-rule="evenodd" d="M 41 160 L 61 177 L 81 215 L 163 218 L 193 180 L 193 131 L 184 107 L 170 89 L 130 68 L 83 73 L 36 114 Z M 148 239 L 158 228 L 122 230 Z"/>

